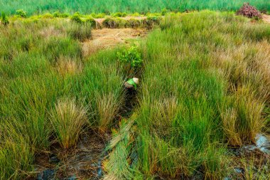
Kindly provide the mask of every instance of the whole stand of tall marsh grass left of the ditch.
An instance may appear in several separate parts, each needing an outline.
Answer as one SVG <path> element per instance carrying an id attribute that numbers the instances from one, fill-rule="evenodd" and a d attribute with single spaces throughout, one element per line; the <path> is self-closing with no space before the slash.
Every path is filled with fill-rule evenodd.
<path id="1" fill-rule="evenodd" d="M 90 28 L 59 18 L 0 26 L 0 179 L 26 179 L 55 139 L 72 148 L 85 127 L 114 125 L 123 75 L 117 51 L 82 58 Z"/>

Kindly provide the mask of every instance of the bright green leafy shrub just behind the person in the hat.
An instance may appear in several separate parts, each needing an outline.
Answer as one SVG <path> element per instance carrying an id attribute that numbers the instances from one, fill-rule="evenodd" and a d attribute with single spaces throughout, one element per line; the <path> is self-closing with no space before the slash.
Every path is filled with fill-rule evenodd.
<path id="1" fill-rule="evenodd" d="M 136 46 L 132 46 L 123 53 L 117 53 L 117 58 L 120 63 L 130 65 L 131 68 L 140 68 L 143 64 L 141 53 L 137 50 Z"/>

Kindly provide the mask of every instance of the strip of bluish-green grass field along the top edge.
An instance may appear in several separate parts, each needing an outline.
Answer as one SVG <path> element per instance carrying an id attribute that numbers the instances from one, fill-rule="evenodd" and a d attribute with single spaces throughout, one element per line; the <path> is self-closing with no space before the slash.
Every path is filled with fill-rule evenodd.
<path id="1" fill-rule="evenodd" d="M 37 0 L 27 0 L 27 1 L 0 1 L 1 11 L 7 14 L 15 14 L 17 9 L 23 9 L 27 11 L 28 14 L 41 14 L 44 12 L 53 13 L 54 11 L 65 11 L 68 13 L 74 13 L 75 11 L 80 11 L 83 14 L 95 13 L 114 13 L 114 12 L 128 12 L 128 13 L 144 13 L 147 12 L 160 12 L 162 9 L 168 9 L 171 11 L 185 11 L 188 10 L 221 10 L 221 11 L 234 11 L 239 9 L 242 4 L 246 2 L 244 0 L 237 1 L 211 1 L 211 0 L 200 0 L 200 1 L 190 1 L 190 0 L 135 0 L 135 1 L 104 1 L 104 0 L 79 0 L 79 1 L 37 1 Z M 270 10 L 270 4 L 267 0 L 250 0 L 250 4 L 256 6 L 260 10 Z"/>

